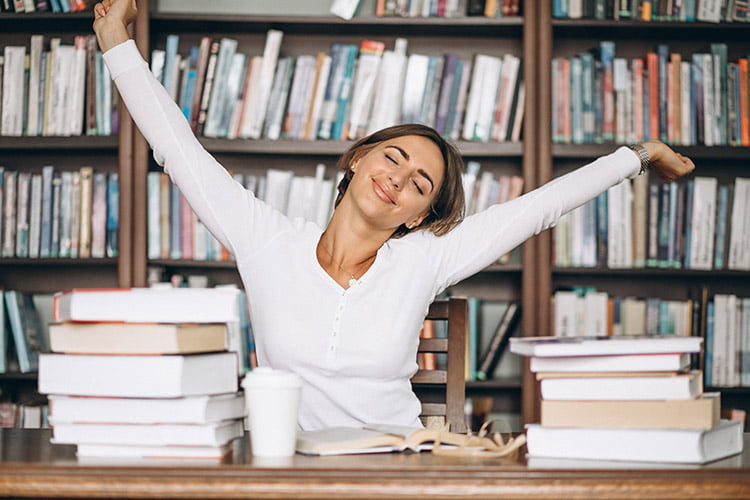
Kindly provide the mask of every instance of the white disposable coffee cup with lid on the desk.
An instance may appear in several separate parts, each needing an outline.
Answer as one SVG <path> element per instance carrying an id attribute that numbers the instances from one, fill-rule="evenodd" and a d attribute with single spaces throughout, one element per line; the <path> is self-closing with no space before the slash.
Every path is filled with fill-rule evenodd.
<path id="1" fill-rule="evenodd" d="M 256 457 L 294 455 L 302 379 L 296 373 L 259 367 L 242 380 L 250 444 Z"/>

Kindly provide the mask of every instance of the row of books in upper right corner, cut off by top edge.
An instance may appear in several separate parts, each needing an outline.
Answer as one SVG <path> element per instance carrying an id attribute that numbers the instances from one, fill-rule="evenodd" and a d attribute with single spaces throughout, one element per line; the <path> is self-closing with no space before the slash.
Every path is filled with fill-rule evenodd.
<path id="1" fill-rule="evenodd" d="M 556 19 L 747 22 L 745 0 L 552 0 Z"/>

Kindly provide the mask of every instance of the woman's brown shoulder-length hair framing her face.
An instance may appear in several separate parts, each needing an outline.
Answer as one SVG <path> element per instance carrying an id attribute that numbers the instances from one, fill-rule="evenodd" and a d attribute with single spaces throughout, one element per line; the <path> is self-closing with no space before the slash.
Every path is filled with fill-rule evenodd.
<path id="1" fill-rule="evenodd" d="M 336 203 L 338 206 L 344 198 L 344 194 L 349 187 L 349 182 L 354 173 L 351 165 L 358 159 L 370 152 L 381 142 L 403 137 L 406 135 L 416 135 L 430 139 L 440 149 L 443 155 L 444 175 L 443 182 L 438 189 L 437 195 L 433 198 L 430 205 L 430 213 L 424 218 L 419 226 L 409 229 L 402 224 L 393 233 L 393 237 L 401 237 L 416 229 L 429 229 L 437 236 L 442 236 L 456 227 L 464 216 L 464 188 L 463 172 L 464 162 L 458 149 L 445 139 L 433 128 L 418 123 L 408 123 L 404 125 L 394 125 L 359 139 L 355 142 L 342 156 L 337 163 L 338 168 L 344 171 L 344 177 L 338 185 L 338 195 Z"/>

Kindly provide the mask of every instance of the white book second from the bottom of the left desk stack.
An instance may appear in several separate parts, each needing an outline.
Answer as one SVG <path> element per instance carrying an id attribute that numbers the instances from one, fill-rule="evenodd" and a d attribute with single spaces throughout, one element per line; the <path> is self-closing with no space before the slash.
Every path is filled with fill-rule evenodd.
<path id="1" fill-rule="evenodd" d="M 219 446 L 242 436 L 242 420 L 210 424 L 55 424 L 57 444 Z"/>

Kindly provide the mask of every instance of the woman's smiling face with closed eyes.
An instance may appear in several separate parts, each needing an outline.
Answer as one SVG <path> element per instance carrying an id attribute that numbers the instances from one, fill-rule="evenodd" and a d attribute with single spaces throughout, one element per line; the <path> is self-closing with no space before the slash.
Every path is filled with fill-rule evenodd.
<path id="1" fill-rule="evenodd" d="M 375 226 L 418 226 L 443 182 L 440 149 L 426 137 L 384 141 L 354 163 L 347 197 Z"/>

